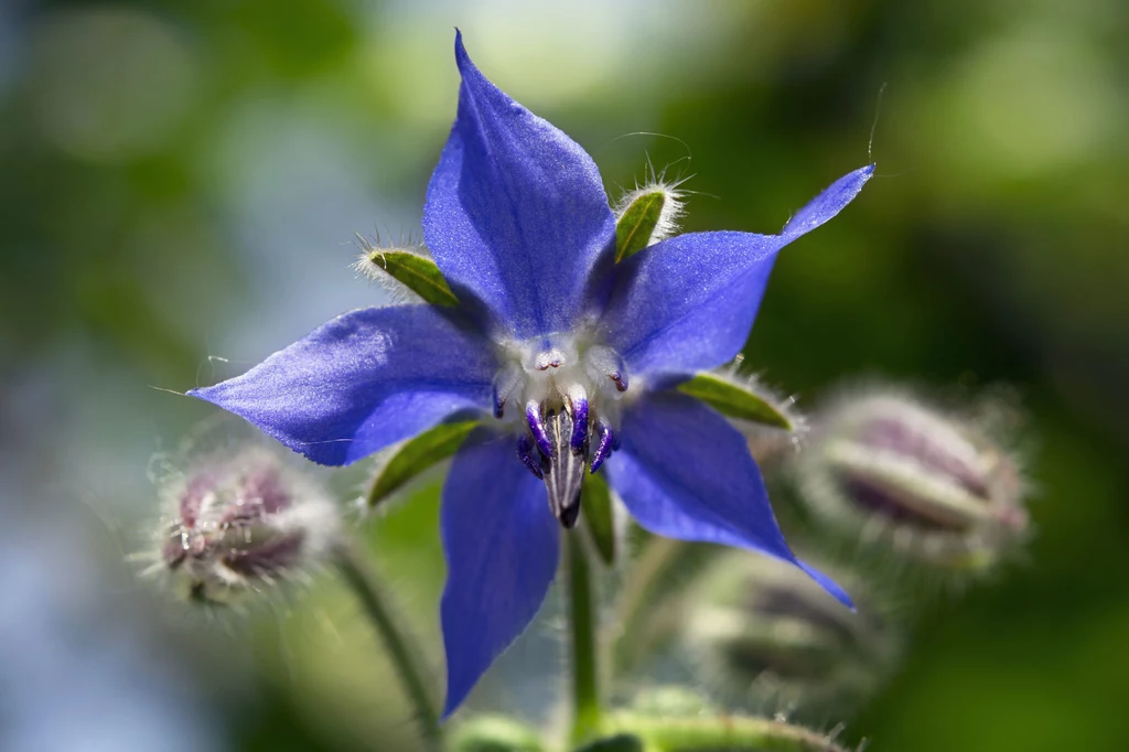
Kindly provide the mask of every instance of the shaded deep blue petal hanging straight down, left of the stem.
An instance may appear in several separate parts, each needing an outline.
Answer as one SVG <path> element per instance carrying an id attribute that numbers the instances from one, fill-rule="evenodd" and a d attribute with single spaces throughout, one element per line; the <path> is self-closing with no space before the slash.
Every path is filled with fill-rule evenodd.
<path id="1" fill-rule="evenodd" d="M 444 718 L 533 621 L 557 572 L 559 539 L 545 487 L 517 458 L 514 437 L 471 434 L 443 489 Z"/>

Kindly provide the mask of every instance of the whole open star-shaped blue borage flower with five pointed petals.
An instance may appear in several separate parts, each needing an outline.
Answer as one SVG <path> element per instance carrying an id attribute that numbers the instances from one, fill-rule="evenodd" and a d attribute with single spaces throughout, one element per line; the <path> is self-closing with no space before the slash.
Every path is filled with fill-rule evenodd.
<path id="1" fill-rule="evenodd" d="M 605 472 L 653 533 L 804 566 L 744 438 L 674 387 L 737 355 L 777 252 L 873 172 L 840 178 L 779 235 L 693 233 L 616 262 L 592 158 L 488 81 L 461 36 L 455 58 L 458 114 L 423 237 L 461 305 L 355 311 L 192 392 L 330 465 L 456 414 L 484 418 L 443 491 L 445 715 L 533 620 L 586 472 Z"/>

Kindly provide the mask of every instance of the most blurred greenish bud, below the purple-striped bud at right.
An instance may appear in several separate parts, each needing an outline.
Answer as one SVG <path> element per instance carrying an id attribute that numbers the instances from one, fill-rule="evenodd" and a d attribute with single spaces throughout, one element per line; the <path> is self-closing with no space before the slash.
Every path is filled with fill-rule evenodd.
<path id="1" fill-rule="evenodd" d="M 720 698 L 841 716 L 877 688 L 896 654 L 891 626 L 857 584 L 848 589 L 854 612 L 794 566 L 730 551 L 688 600 L 683 642 Z"/>

